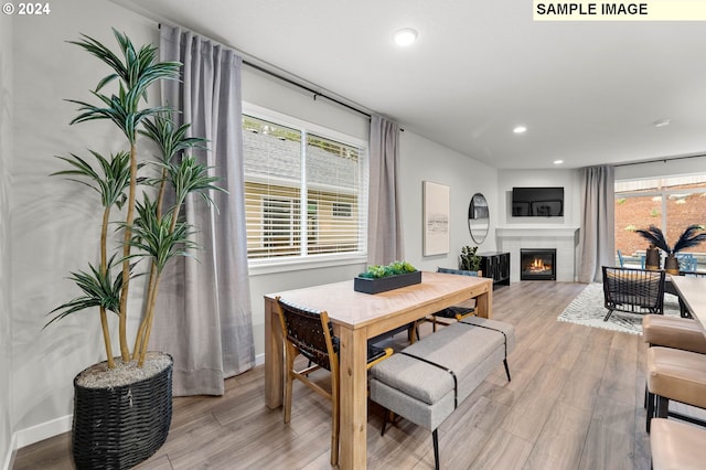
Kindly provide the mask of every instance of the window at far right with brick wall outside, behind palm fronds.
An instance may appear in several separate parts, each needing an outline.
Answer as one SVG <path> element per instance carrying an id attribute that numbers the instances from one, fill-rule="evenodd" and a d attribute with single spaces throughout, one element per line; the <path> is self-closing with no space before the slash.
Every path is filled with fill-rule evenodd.
<path id="1" fill-rule="evenodd" d="M 704 214 L 706 174 L 616 181 L 616 249 L 625 263 L 639 267 L 646 242 L 635 229 L 655 225 L 673 245 L 687 226 L 704 223 Z M 699 265 L 706 263 L 706 245 L 685 252 L 697 254 Z"/>

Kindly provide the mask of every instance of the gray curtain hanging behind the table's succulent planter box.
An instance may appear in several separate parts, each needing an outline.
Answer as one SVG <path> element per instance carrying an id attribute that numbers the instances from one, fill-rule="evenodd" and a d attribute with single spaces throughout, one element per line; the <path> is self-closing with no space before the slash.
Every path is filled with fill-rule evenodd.
<path id="1" fill-rule="evenodd" d="M 367 263 L 386 265 L 404 258 L 399 197 L 399 126 L 371 118 Z"/>

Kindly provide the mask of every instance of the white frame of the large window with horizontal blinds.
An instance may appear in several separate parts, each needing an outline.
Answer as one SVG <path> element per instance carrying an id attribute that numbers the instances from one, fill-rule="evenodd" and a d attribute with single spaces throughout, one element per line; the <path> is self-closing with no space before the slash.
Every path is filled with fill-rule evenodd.
<path id="1" fill-rule="evenodd" d="M 368 142 L 330 129 L 323 126 L 317 125 L 314 122 L 310 122 L 303 119 L 296 118 L 293 116 L 289 116 L 282 113 L 275 111 L 272 109 L 268 109 L 258 105 L 254 105 L 250 103 L 243 102 L 243 115 L 252 116 L 257 119 L 268 120 L 274 124 L 278 124 L 288 128 L 292 128 L 302 132 L 302 146 L 306 147 L 307 137 L 309 135 L 315 135 L 319 137 L 323 137 L 327 139 L 331 139 L 344 145 L 353 146 L 360 149 L 360 171 L 362 174 L 362 181 L 360 183 L 357 195 L 359 195 L 359 215 L 357 215 L 357 231 L 359 231 L 359 250 L 357 252 L 346 252 L 346 253 L 335 253 L 335 254 L 304 254 L 304 255 L 293 255 L 293 256 L 281 256 L 281 257 L 271 257 L 271 258 L 248 258 L 248 268 L 249 274 L 252 276 L 270 274 L 270 273 L 280 273 L 288 270 L 298 270 L 298 269 L 312 269 L 320 267 L 330 267 L 330 266 L 343 266 L 343 265 L 353 265 L 365 263 L 367 259 L 367 213 L 368 213 L 368 179 L 370 179 L 370 156 L 368 156 Z M 306 158 L 306 150 L 304 156 Z M 301 201 L 302 194 L 306 194 L 307 191 L 307 181 L 304 179 L 306 175 L 306 164 L 301 165 L 301 185 L 300 185 L 300 194 L 297 200 L 299 201 L 300 207 L 303 207 L 303 202 Z M 311 201 L 307 202 L 307 207 L 311 205 Z M 318 210 L 317 202 L 317 210 Z M 300 216 L 303 220 L 308 220 L 310 216 L 309 209 L 307 211 L 300 211 Z M 303 222 L 303 221 L 302 221 Z M 301 234 L 306 236 L 302 241 L 308 241 L 310 235 L 310 227 L 301 227 Z M 306 242 L 303 242 L 306 244 Z"/>

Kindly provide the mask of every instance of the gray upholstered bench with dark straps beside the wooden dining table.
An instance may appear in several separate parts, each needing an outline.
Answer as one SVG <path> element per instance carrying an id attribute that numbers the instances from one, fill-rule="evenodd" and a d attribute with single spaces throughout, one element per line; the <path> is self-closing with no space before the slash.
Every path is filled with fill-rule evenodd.
<path id="1" fill-rule="evenodd" d="M 405 348 L 371 368 L 370 397 L 389 412 L 431 431 L 439 469 L 437 429 L 500 365 L 507 381 L 507 354 L 515 346 L 512 324 L 466 318 Z"/>

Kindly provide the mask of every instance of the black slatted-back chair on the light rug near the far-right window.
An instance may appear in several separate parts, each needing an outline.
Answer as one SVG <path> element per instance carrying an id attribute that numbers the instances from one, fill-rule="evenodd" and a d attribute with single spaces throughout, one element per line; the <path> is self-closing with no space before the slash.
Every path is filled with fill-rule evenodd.
<path id="1" fill-rule="evenodd" d="M 613 311 L 664 313 L 664 271 L 603 266 L 608 321 Z"/>

